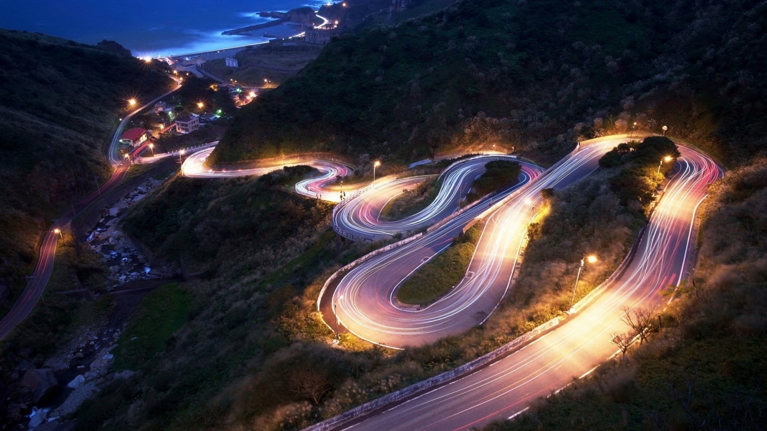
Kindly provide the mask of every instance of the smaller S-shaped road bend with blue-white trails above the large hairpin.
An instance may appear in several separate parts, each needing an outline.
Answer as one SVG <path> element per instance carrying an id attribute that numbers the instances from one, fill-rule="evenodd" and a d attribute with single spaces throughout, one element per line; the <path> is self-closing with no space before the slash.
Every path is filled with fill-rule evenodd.
<path id="1" fill-rule="evenodd" d="M 474 156 L 459 160 L 439 176 L 439 192 L 433 202 L 420 212 L 403 219 L 384 222 L 379 219 L 381 209 L 387 202 L 400 195 L 403 189 L 418 186 L 427 176 L 411 176 L 402 179 L 380 181 L 368 187 L 357 198 L 347 199 L 333 212 L 333 227 L 338 233 L 351 239 L 383 239 L 397 232 L 414 232 L 445 219 L 456 211 L 459 202 L 466 196 L 472 182 L 485 172 L 485 164 L 492 160 L 512 160 L 514 156 Z M 529 163 L 522 163 L 520 183 L 522 186 L 538 176 L 542 169 Z M 502 196 L 495 196 L 501 199 Z"/>

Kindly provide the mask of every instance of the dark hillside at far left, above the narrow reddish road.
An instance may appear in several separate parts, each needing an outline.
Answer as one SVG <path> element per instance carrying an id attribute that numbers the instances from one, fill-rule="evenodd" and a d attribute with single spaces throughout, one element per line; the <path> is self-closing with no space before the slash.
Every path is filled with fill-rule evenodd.
<path id="1" fill-rule="evenodd" d="M 127 98 L 168 87 L 135 58 L 0 30 L 0 294 L 23 287 L 51 219 L 110 175 L 102 147 Z"/>

